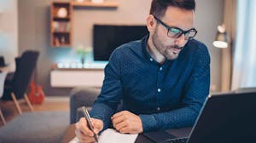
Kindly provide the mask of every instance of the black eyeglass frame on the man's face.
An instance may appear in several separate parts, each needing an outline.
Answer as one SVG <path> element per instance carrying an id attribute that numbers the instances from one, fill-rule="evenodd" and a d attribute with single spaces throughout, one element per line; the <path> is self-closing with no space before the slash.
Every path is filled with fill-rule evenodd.
<path id="1" fill-rule="evenodd" d="M 154 15 L 153 15 L 153 16 L 154 16 Z M 196 34 L 197 34 L 197 31 L 196 31 L 195 28 L 191 28 L 191 29 L 189 29 L 188 31 L 183 31 L 181 28 L 178 28 L 178 27 L 167 26 L 165 22 L 163 22 L 162 20 L 160 20 L 160 19 L 157 18 L 156 16 L 154 16 L 154 19 L 157 20 L 158 22 L 160 22 L 160 24 L 161 24 L 162 26 L 165 26 L 165 27 L 166 27 L 166 29 L 168 30 L 168 31 L 167 31 L 167 37 L 171 37 L 171 36 L 168 35 L 168 33 L 169 33 L 169 31 L 170 31 L 172 28 L 175 28 L 175 29 L 177 29 L 177 30 L 179 30 L 179 31 L 182 31 L 182 32 L 181 32 L 177 37 L 171 37 L 171 38 L 178 38 L 178 37 L 181 37 L 181 36 L 184 34 L 185 40 L 188 40 L 188 41 L 189 41 L 190 39 L 193 39 L 193 38 L 196 36 Z M 188 33 L 189 31 L 195 31 L 195 35 L 194 35 L 193 37 L 186 37 L 186 33 Z"/>

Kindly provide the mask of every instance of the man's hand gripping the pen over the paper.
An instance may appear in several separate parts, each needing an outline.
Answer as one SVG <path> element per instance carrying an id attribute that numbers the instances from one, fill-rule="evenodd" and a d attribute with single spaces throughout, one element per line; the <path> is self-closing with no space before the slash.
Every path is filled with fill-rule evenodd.
<path id="1" fill-rule="evenodd" d="M 94 128 L 94 133 L 98 134 L 103 129 L 103 122 L 100 119 L 90 118 L 91 124 Z M 81 117 L 79 122 L 76 123 L 75 133 L 79 138 L 80 143 L 96 142 L 93 137 L 92 131 L 88 128 L 87 122 L 84 117 Z"/>

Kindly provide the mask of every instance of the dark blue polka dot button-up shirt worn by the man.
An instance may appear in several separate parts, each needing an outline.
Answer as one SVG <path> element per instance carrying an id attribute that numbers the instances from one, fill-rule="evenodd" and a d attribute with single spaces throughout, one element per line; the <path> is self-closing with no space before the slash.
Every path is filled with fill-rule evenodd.
<path id="1" fill-rule="evenodd" d="M 206 45 L 189 40 L 176 60 L 156 62 L 147 52 L 148 36 L 113 51 L 105 67 L 101 94 L 91 117 L 108 129 L 121 110 L 137 114 L 143 131 L 192 126 L 209 94 L 210 55 Z"/>

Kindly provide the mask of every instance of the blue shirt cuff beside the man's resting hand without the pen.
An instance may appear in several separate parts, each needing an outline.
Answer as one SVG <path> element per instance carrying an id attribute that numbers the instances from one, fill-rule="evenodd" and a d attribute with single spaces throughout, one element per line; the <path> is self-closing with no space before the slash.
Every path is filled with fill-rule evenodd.
<path id="1" fill-rule="evenodd" d="M 139 115 L 143 123 L 143 132 L 158 129 L 158 123 L 154 115 Z"/>

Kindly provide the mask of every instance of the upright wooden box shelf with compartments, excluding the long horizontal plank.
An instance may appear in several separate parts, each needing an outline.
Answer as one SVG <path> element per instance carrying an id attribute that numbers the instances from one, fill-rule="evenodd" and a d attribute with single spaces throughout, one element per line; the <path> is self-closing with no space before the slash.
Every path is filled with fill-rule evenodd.
<path id="1" fill-rule="evenodd" d="M 70 3 L 52 3 L 50 10 L 50 43 L 52 47 L 72 45 L 73 7 Z"/>

